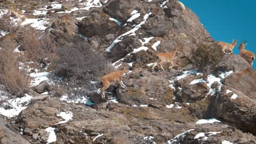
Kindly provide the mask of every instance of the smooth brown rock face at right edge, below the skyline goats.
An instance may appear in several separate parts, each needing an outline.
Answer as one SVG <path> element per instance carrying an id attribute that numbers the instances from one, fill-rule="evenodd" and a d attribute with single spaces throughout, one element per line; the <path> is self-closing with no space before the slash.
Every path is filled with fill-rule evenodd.
<path id="1" fill-rule="evenodd" d="M 256 71 L 251 67 L 226 77 L 223 79 L 223 84 L 243 92 L 249 98 L 256 99 Z"/>

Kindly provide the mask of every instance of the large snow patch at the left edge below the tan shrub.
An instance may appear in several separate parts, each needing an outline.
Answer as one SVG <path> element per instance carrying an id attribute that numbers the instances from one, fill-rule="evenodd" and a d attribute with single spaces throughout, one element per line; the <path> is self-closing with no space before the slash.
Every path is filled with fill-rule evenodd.
<path id="1" fill-rule="evenodd" d="M 4 95 L 1 96 L 0 99 L 6 98 Z M 3 103 L 3 106 L 11 106 L 12 109 L 5 109 L 3 107 L 0 107 L 0 114 L 6 116 L 6 117 L 14 117 L 18 116 L 19 113 L 27 108 L 27 104 L 31 101 L 31 96 L 28 94 L 25 94 L 22 98 L 15 98 L 7 100 L 8 102 Z"/>

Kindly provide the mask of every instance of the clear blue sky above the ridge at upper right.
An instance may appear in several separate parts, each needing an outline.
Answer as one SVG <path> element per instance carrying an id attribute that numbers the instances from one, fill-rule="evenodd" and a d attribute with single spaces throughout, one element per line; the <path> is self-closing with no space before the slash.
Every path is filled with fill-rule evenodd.
<path id="1" fill-rule="evenodd" d="M 234 53 L 239 54 L 238 46 L 246 39 L 245 49 L 256 53 L 256 11 L 255 0 L 180 0 L 196 13 L 201 23 L 215 41 L 231 43 L 237 39 Z M 256 68 L 256 61 L 253 63 Z"/>

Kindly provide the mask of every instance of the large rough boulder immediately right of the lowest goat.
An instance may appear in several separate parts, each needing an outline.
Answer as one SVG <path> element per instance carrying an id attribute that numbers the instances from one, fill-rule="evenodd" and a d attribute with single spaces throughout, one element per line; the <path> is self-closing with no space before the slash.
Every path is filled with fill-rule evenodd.
<path id="1" fill-rule="evenodd" d="M 129 78 L 125 81 L 125 89 L 119 89 L 119 102 L 127 105 L 170 105 L 173 103 L 173 89 L 166 79 L 147 75 L 147 71 L 133 71 L 130 75 L 137 75 L 138 78 Z M 146 73 L 146 76 L 143 76 Z M 144 74 L 145 75 L 145 74 Z"/>

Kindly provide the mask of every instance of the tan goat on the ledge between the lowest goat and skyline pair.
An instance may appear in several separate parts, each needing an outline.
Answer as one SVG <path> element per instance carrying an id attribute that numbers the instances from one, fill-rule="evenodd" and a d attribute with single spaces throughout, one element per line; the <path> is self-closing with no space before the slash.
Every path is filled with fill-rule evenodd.
<path id="1" fill-rule="evenodd" d="M 167 53 L 157 53 L 157 61 L 154 63 L 152 70 L 154 71 L 155 66 L 157 66 L 158 64 L 161 66 L 161 68 L 164 70 L 164 68 L 162 67 L 162 64 L 164 63 L 169 63 L 169 69 L 171 69 L 174 65 L 173 65 L 173 60 L 174 57 L 177 53 L 177 50 L 174 50 L 172 52 L 167 52 Z"/>

